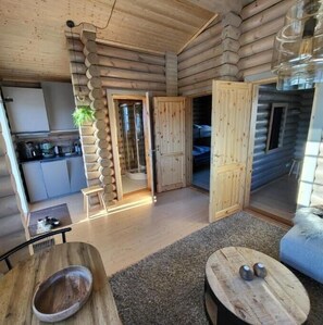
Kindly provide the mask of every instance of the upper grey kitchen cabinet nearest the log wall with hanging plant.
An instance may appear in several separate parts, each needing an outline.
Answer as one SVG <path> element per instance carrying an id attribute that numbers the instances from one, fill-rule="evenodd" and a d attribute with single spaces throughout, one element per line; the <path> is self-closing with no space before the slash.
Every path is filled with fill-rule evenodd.
<path id="1" fill-rule="evenodd" d="M 76 129 L 72 114 L 75 110 L 72 84 L 41 83 L 51 130 Z"/>

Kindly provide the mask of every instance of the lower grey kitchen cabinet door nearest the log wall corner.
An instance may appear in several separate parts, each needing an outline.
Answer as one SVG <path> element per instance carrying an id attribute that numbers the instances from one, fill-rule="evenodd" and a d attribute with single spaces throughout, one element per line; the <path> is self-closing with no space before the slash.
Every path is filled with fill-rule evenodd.
<path id="1" fill-rule="evenodd" d="M 70 175 L 71 192 L 76 192 L 87 187 L 82 157 L 67 159 L 67 168 Z"/>

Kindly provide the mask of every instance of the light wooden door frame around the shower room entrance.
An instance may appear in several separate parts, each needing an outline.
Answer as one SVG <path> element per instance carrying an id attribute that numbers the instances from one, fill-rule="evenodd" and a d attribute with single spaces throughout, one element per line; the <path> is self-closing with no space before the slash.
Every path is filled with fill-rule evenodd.
<path id="1" fill-rule="evenodd" d="M 145 135 L 145 145 L 149 143 L 148 147 L 152 148 L 151 140 L 151 118 L 148 110 L 150 110 L 150 92 L 149 91 L 138 91 L 138 90 L 122 90 L 122 89 L 107 89 L 107 99 L 108 99 L 108 112 L 109 112 L 109 124 L 111 132 L 111 142 L 112 142 L 112 154 L 113 154 L 113 164 L 115 172 L 115 184 L 116 184 L 116 199 L 121 201 L 123 199 L 123 187 L 122 187 L 122 177 L 121 177 L 121 166 L 119 159 L 119 146 L 117 146 L 117 127 L 116 127 L 116 116 L 115 116 L 115 104 L 114 100 L 141 100 L 142 101 L 142 120 L 144 120 L 144 135 Z M 148 120 L 148 121 L 147 121 Z M 147 134 L 148 132 L 148 134 Z M 147 184 L 148 188 L 150 187 L 151 197 L 154 198 L 154 182 L 153 182 L 153 164 L 152 164 L 152 152 L 148 152 L 149 148 L 145 146 L 146 153 L 146 167 L 147 167 Z M 149 162 L 147 163 L 147 160 Z M 150 184 L 149 184 L 150 183 Z"/>

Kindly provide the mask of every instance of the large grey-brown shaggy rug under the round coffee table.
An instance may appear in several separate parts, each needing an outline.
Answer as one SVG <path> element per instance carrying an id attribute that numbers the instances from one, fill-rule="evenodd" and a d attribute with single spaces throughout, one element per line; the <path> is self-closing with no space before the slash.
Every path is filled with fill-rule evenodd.
<path id="1" fill-rule="evenodd" d="M 209 324 L 203 304 L 208 257 L 226 246 L 245 246 L 278 259 L 285 233 L 240 212 L 114 274 L 110 283 L 123 324 Z M 310 296 L 307 324 L 322 325 L 323 285 L 293 272 Z"/>

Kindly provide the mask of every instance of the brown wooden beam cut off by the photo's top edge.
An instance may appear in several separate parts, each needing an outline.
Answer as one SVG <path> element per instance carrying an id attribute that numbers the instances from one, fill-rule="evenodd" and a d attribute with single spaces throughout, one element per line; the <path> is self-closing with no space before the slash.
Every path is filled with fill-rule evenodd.
<path id="1" fill-rule="evenodd" d="M 187 0 L 188 2 L 214 13 L 225 14 L 231 11 L 239 14 L 243 9 L 241 0 Z"/>

